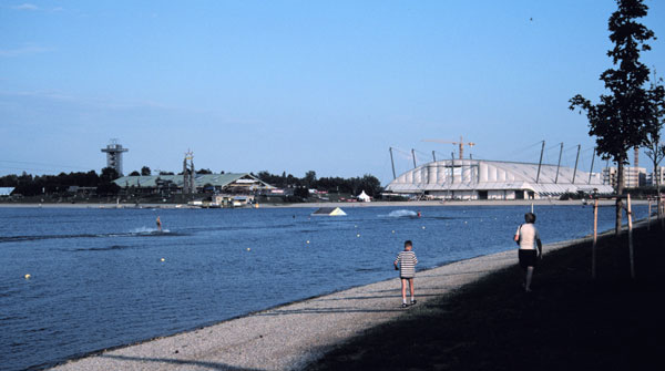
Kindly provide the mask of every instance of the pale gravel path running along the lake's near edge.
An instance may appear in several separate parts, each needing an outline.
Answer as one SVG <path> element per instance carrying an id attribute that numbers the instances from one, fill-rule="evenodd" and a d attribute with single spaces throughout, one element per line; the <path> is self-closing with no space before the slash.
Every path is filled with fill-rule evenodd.
<path id="1" fill-rule="evenodd" d="M 543 250 L 579 241 L 545 245 Z M 516 260 L 513 249 L 420 271 L 415 285 L 418 305 Z M 336 343 L 406 310 L 396 278 L 105 351 L 52 370 L 298 370 Z"/>

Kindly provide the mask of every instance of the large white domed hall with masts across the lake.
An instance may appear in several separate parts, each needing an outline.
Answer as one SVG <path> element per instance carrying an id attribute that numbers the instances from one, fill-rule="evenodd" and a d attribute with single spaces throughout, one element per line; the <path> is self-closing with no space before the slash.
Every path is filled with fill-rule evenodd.
<path id="1" fill-rule="evenodd" d="M 430 162 L 408 171 L 387 193 L 443 199 L 524 199 L 565 193 L 612 194 L 601 174 L 556 165 L 484 159 Z"/>

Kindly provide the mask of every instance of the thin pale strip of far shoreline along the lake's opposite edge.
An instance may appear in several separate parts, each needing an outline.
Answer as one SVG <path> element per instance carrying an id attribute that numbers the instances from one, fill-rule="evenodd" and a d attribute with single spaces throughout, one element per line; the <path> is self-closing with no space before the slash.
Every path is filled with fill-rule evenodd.
<path id="1" fill-rule="evenodd" d="M 299 204 L 258 204 L 260 208 L 319 208 L 319 207 L 340 207 L 340 208 L 357 208 L 357 207 L 456 207 L 456 206 L 582 206 L 579 199 L 559 200 L 559 199 L 515 199 L 515 200 L 416 200 L 416 202 L 371 202 L 371 203 L 299 203 Z M 613 199 L 598 200 L 600 206 L 614 205 Z M 646 205 L 646 199 L 634 199 L 633 205 Z M 586 205 L 592 206 L 592 205 Z M 10 204 L 0 203 L 0 208 L 99 208 L 99 209 L 192 209 L 200 207 L 190 207 L 183 204 Z M 250 206 L 238 207 L 253 208 Z"/>

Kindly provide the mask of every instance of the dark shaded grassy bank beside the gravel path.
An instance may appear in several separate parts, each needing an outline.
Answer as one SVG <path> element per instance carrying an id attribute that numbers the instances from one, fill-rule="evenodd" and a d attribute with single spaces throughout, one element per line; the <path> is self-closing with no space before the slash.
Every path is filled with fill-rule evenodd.
<path id="1" fill-rule="evenodd" d="M 534 292 L 492 274 L 352 339 L 315 370 L 648 370 L 665 363 L 665 233 L 636 229 L 545 255 Z M 418 288 L 416 286 L 416 288 Z M 658 365 L 661 364 L 661 365 Z"/>

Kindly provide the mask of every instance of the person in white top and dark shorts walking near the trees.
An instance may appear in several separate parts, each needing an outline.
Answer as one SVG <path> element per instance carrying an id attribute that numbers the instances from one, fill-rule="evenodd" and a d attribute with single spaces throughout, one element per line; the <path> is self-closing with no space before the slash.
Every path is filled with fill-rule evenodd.
<path id="1" fill-rule="evenodd" d="M 515 233 L 514 240 L 520 245 L 518 256 L 520 259 L 520 267 L 526 272 L 524 278 L 524 291 L 531 292 L 531 280 L 533 278 L 533 270 L 538 265 L 538 260 L 543 258 L 543 244 L 540 240 L 540 234 L 533 225 L 535 223 L 535 215 L 533 213 L 524 214 L 524 224 L 522 224 Z M 538 250 L 533 244 L 538 246 Z"/>

